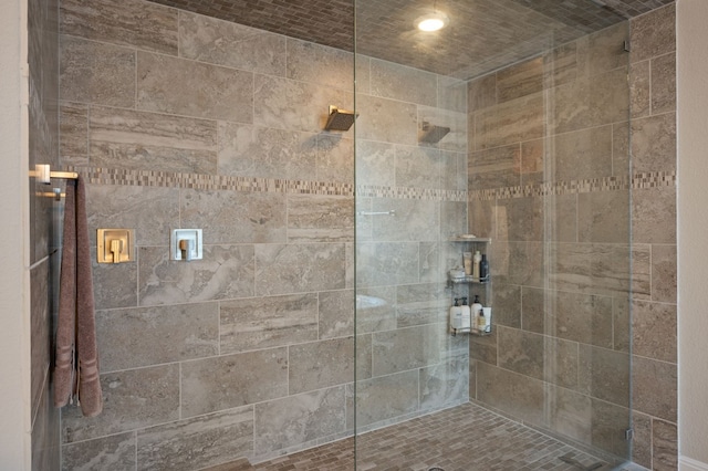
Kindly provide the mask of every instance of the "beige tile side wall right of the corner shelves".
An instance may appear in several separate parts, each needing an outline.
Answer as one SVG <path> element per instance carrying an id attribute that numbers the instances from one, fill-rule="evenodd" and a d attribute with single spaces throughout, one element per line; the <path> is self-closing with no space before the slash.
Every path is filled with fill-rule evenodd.
<path id="1" fill-rule="evenodd" d="M 470 231 L 496 241 L 470 395 L 623 456 L 631 416 L 656 470 L 677 457 L 674 28 L 668 6 L 468 88 Z"/>

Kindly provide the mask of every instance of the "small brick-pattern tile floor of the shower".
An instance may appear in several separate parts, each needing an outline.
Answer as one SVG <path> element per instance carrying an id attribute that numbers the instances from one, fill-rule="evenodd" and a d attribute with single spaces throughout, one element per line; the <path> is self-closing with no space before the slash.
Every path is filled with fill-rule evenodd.
<path id="1" fill-rule="evenodd" d="M 363 433 L 356 446 L 360 449 L 358 471 L 643 469 L 607 462 L 475 404 Z M 564 462 L 561 457 L 581 465 Z M 205 471 L 247 470 L 354 470 L 354 439 L 340 440 L 258 464 L 240 460 Z"/>

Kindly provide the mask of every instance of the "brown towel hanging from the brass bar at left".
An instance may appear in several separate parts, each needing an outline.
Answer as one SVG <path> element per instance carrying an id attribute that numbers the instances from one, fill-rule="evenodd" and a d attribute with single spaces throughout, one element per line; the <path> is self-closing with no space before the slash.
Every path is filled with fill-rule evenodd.
<path id="1" fill-rule="evenodd" d="M 98 348 L 91 279 L 91 250 L 83 179 L 66 182 L 59 325 L 54 366 L 54 406 L 79 398 L 86 417 L 101 414 Z"/>

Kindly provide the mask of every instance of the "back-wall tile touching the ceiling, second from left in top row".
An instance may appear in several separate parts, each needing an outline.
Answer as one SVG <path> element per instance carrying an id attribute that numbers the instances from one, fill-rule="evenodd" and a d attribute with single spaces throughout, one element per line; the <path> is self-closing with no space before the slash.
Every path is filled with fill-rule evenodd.
<path id="1" fill-rule="evenodd" d="M 179 12 L 179 55 L 249 72 L 285 75 L 285 36 Z"/>

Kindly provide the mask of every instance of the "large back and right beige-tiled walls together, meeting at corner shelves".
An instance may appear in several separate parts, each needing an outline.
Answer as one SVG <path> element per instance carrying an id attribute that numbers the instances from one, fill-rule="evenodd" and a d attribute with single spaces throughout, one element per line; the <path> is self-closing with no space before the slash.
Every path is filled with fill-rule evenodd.
<path id="1" fill-rule="evenodd" d="M 675 463 L 673 7 L 629 56 L 618 25 L 469 83 L 358 55 L 356 104 L 347 52 L 137 0 L 60 11 L 62 165 L 92 232 L 138 245 L 93 266 L 106 402 L 63 410 L 64 469 L 259 461 L 470 399 L 617 454 L 632 420 L 633 459 Z M 322 130 L 331 104 L 356 139 Z M 424 121 L 451 132 L 419 146 Z M 204 260 L 169 260 L 174 228 Z M 483 338 L 447 332 L 466 232 L 492 239 Z"/>

